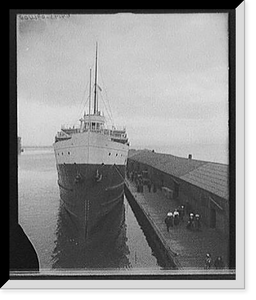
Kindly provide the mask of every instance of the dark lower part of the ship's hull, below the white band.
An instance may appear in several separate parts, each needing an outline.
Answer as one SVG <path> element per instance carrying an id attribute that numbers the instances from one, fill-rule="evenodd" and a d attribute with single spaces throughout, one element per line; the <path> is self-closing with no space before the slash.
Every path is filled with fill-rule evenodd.
<path id="1" fill-rule="evenodd" d="M 122 220 L 125 166 L 59 164 L 57 170 L 60 197 L 74 227 L 80 237 L 95 244 L 108 234 L 104 220 L 109 214 L 115 212 L 116 221 Z M 119 225 L 111 230 L 118 231 Z"/>

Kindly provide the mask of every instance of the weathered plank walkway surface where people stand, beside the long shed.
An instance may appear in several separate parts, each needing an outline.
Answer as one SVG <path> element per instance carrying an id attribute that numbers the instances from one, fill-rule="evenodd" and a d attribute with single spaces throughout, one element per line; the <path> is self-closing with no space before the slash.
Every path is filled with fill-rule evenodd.
<path id="1" fill-rule="evenodd" d="M 126 180 L 126 185 L 158 229 L 158 234 L 166 241 L 165 244 L 174 253 L 179 269 L 203 269 L 206 253 L 211 253 L 212 263 L 217 256 L 222 256 L 225 267 L 228 267 L 228 238 L 223 238 L 215 229 L 208 228 L 204 224 L 200 231 L 188 230 L 186 228 L 188 216 L 185 216 L 183 223 L 170 228 L 167 232 L 164 223 L 166 214 L 169 210 L 174 211 L 179 203 L 167 199 L 159 190 L 153 193 L 151 189 L 149 193 L 147 186 L 144 186 L 143 193 L 138 193 L 135 184 L 130 180 Z"/>

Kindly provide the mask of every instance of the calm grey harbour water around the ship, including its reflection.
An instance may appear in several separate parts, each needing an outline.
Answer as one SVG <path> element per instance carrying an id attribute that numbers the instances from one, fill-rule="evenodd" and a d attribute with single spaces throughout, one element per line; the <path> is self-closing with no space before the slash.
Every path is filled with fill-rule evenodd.
<path id="1" fill-rule="evenodd" d="M 118 238 L 84 251 L 59 197 L 52 148 L 27 148 L 19 155 L 18 201 L 19 223 L 35 247 L 41 272 L 161 270 L 126 199 Z"/>

